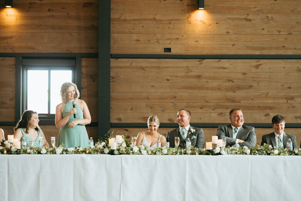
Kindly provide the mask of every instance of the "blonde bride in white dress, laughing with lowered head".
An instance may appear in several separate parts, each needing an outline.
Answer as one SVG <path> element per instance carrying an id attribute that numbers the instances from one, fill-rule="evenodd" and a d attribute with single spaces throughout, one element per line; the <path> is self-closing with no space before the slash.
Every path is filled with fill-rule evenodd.
<path id="1" fill-rule="evenodd" d="M 161 147 L 164 147 L 166 138 L 157 132 L 159 125 L 159 118 L 156 115 L 150 116 L 147 120 L 148 131 L 138 133 L 136 146 L 142 144 L 146 148 L 156 149 L 157 142 L 161 142 Z"/>

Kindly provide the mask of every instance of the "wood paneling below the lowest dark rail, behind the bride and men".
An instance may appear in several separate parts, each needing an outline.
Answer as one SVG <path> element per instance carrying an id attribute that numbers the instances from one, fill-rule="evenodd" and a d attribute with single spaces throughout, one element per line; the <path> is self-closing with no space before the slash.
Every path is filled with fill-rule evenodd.
<path id="1" fill-rule="evenodd" d="M 230 124 L 230 123 L 229 123 Z M 227 124 L 225 124 L 227 125 Z M 166 136 L 166 133 L 168 130 L 172 130 L 175 128 L 160 128 L 158 129 L 158 133 Z M 130 139 L 130 137 L 135 137 L 138 135 L 139 132 L 141 131 L 147 131 L 147 125 L 145 124 L 145 128 L 111 128 L 111 131 L 114 130 L 113 134 L 116 134 L 118 132 L 119 135 L 127 135 L 127 139 Z M 204 131 L 204 137 L 205 137 L 205 142 L 211 142 L 212 141 L 212 136 L 216 135 L 217 128 L 203 128 Z M 262 135 L 272 133 L 274 129 L 271 128 L 255 128 L 256 132 L 256 138 L 257 138 L 257 144 L 261 144 L 262 140 Z M 300 146 L 300 140 L 301 140 L 301 134 L 300 134 L 300 128 L 285 128 L 285 132 L 295 135 L 296 136 L 296 141 L 298 147 Z M 205 143 L 206 146 L 206 143 Z M 257 147 L 257 145 L 256 145 Z"/>

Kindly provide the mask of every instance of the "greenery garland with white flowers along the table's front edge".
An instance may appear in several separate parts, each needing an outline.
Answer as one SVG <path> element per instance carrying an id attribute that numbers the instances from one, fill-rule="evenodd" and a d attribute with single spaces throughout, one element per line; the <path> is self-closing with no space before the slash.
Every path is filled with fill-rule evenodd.
<path id="1" fill-rule="evenodd" d="M 276 149 L 270 145 L 264 144 L 258 148 L 248 147 L 231 147 L 231 148 L 220 148 L 206 150 L 198 149 L 195 147 L 181 149 L 181 148 L 169 148 L 160 147 L 156 149 L 149 149 L 144 145 L 139 147 L 134 146 L 126 140 L 126 136 L 123 136 L 123 143 L 117 148 L 117 150 L 111 150 L 108 146 L 107 140 L 98 140 L 95 146 L 83 147 L 71 147 L 65 148 L 64 144 L 59 147 L 29 147 L 15 149 L 14 146 L 10 147 L 10 143 L 7 140 L 3 140 L 0 146 L 0 154 L 110 154 L 110 155 L 227 155 L 227 154 L 241 154 L 241 155 L 301 155 L 301 148 L 295 148 L 293 151 L 290 149 Z"/>

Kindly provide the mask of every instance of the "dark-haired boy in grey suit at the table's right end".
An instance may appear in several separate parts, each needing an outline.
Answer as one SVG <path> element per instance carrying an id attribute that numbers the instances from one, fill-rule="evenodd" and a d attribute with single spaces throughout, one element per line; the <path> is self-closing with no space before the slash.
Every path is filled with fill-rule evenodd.
<path id="1" fill-rule="evenodd" d="M 297 146 L 296 136 L 284 133 L 285 127 L 285 118 L 282 115 L 275 115 L 272 118 L 272 127 L 274 128 L 274 132 L 270 134 L 266 134 L 262 136 L 261 146 L 264 143 L 272 145 L 277 149 L 286 148 L 286 143 L 288 139 L 291 139 L 293 142 L 293 149 Z M 298 147 L 298 146 L 297 146 Z"/>

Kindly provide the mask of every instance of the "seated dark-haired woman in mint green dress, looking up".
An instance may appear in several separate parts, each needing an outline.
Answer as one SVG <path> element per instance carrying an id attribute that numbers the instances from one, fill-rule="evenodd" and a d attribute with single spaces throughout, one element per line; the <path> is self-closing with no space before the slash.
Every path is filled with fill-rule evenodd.
<path id="1" fill-rule="evenodd" d="M 26 110 L 25 112 L 23 112 L 23 115 L 20 121 L 17 123 L 17 126 L 14 127 L 14 138 L 17 138 L 20 141 L 21 138 L 24 137 L 26 140 L 27 147 L 29 146 L 29 141 L 33 141 L 33 146 L 40 147 L 39 137 L 43 137 L 43 146 L 49 147 L 44 133 L 40 129 L 38 123 L 38 113 L 32 110 Z"/>

